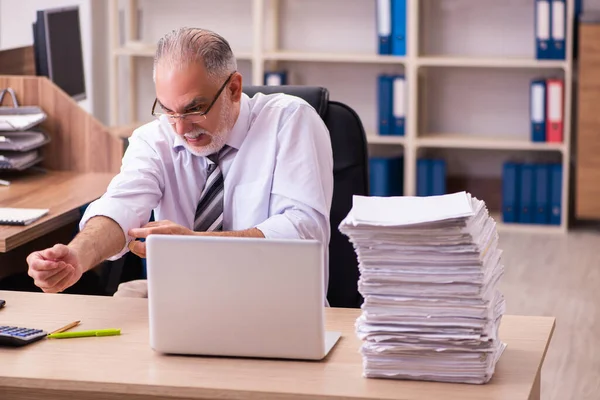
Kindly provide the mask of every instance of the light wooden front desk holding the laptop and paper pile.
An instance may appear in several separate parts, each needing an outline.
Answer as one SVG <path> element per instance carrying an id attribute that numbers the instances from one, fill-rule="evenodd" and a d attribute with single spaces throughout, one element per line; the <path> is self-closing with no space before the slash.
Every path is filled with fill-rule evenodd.
<path id="1" fill-rule="evenodd" d="M 366 379 L 354 321 L 360 310 L 328 309 L 343 336 L 322 362 L 165 356 L 148 344 L 145 299 L 1 292 L 2 324 L 54 330 L 121 328 L 121 336 L 43 340 L 0 348 L 0 398 L 100 399 L 539 399 L 540 368 L 554 318 L 505 316 L 508 343 L 486 385 Z"/>

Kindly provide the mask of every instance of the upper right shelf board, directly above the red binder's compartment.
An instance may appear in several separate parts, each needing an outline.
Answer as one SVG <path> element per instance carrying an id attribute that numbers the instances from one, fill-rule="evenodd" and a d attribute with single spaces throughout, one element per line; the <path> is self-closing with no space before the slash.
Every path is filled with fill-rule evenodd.
<path id="1" fill-rule="evenodd" d="M 487 68 L 549 68 L 566 69 L 564 60 L 537 60 L 525 57 L 452 57 L 422 56 L 417 59 L 424 67 L 487 67 Z"/>

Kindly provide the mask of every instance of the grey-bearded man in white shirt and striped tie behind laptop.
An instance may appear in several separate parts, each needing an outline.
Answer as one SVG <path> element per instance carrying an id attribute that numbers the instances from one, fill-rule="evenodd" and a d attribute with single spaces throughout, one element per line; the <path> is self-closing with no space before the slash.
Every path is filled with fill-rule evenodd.
<path id="1" fill-rule="evenodd" d="M 157 119 L 133 133 L 121 171 L 87 208 L 80 233 L 28 256 L 38 287 L 61 292 L 128 250 L 145 257 L 136 239 L 151 234 L 316 239 L 327 287 L 327 128 L 299 98 L 249 98 L 236 69 L 229 44 L 214 32 L 182 28 L 158 42 Z M 156 221 L 148 223 L 153 210 Z"/>

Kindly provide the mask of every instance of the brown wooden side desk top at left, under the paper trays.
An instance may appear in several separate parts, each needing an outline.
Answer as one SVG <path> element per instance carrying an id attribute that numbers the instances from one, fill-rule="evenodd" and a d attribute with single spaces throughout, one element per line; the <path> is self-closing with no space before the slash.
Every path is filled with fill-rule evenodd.
<path id="1" fill-rule="evenodd" d="M 29 173 L 0 186 L 0 207 L 48 208 L 50 212 L 27 226 L 0 225 L 0 253 L 39 238 L 80 217 L 79 207 L 99 198 L 114 174 L 48 171 Z"/>

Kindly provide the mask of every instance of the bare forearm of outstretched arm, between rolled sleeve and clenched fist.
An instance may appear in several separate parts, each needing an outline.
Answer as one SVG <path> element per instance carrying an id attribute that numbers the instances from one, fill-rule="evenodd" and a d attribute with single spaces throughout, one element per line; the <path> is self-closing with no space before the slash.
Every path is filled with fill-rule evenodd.
<path id="1" fill-rule="evenodd" d="M 86 271 L 117 254 L 124 246 L 123 230 L 114 220 L 104 216 L 91 218 L 69 243 Z"/>

